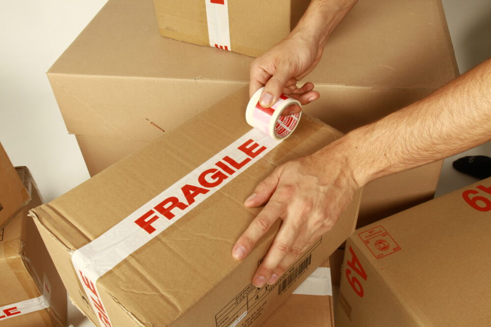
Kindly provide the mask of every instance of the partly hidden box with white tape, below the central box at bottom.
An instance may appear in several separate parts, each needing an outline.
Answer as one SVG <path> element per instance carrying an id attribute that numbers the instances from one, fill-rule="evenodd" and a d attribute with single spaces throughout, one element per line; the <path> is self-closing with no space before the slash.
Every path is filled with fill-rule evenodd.
<path id="1" fill-rule="evenodd" d="M 307 277 L 261 327 L 334 327 L 328 267 L 329 263 L 326 261 L 314 272 L 317 275 Z M 324 292 L 325 290 L 327 291 Z"/>

